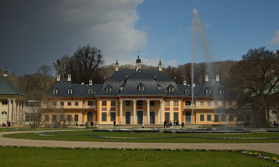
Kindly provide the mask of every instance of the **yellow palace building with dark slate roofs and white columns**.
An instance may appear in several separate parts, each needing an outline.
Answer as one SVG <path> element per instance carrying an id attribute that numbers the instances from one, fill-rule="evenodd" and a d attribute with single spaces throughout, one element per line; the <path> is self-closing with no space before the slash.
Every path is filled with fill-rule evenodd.
<path id="1" fill-rule="evenodd" d="M 219 83 L 219 75 L 205 75 L 205 84 L 192 85 L 175 81 L 162 72 L 162 63 L 157 70 L 142 70 L 141 59 L 136 60 L 136 69 L 119 69 L 115 63 L 114 74 L 103 84 L 71 83 L 71 74 L 57 82 L 46 93 L 55 99 L 53 107 L 60 108 L 67 118 L 85 124 L 163 124 L 165 120 L 179 120 L 185 124 L 228 124 L 234 121 L 231 114 L 218 114 L 215 108 L 234 105 L 234 98 L 226 97 Z M 192 113 L 193 108 L 193 113 Z M 55 120 L 55 112 L 49 112 L 43 121 Z M 61 119 L 63 121 L 63 119 Z"/>

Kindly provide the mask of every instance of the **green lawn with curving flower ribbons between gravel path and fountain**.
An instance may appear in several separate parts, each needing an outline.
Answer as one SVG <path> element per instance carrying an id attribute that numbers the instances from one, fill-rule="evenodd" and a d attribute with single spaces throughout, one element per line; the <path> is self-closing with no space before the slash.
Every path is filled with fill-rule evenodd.
<path id="1" fill-rule="evenodd" d="M 174 138 L 174 139 L 104 139 L 91 135 L 106 137 L 279 137 L 278 132 L 273 133 L 247 133 L 247 134 L 187 134 L 187 133 L 129 133 L 129 132 L 94 132 L 92 130 L 76 130 L 57 132 L 51 135 L 89 135 L 89 136 L 39 136 L 31 133 L 6 134 L 3 137 L 16 139 L 35 140 L 61 140 L 61 141 L 101 141 L 101 142 L 146 142 L 146 143 L 279 143 L 279 139 L 194 139 L 194 138 Z"/>

